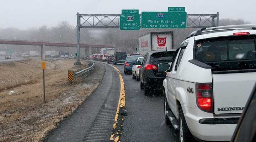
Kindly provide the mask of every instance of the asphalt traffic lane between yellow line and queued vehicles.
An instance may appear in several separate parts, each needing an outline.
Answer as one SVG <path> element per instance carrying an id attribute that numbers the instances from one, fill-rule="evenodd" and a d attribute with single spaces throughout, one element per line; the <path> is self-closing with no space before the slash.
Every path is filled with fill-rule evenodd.
<path id="1" fill-rule="evenodd" d="M 122 73 L 126 94 L 122 142 L 178 142 L 178 133 L 164 122 L 164 97 L 145 96 L 139 81 L 124 75 L 123 64 L 115 66 Z"/>

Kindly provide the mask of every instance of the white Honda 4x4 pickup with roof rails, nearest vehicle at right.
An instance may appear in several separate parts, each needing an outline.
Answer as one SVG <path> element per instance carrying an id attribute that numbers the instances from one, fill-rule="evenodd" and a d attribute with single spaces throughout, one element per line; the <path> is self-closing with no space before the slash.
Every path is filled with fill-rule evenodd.
<path id="1" fill-rule="evenodd" d="M 192 32 L 171 63 L 158 65 L 160 72 L 167 71 L 165 122 L 179 130 L 180 141 L 230 141 L 256 82 L 252 27 L 256 25 Z"/>

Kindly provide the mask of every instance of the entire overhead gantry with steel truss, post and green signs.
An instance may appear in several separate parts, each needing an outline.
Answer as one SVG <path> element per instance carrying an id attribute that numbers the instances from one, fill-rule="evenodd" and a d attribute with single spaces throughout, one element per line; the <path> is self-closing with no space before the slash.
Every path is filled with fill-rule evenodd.
<path id="1" fill-rule="evenodd" d="M 122 10 L 121 14 L 76 14 L 76 48 L 80 63 L 80 28 L 120 28 L 139 30 L 140 28 L 208 28 L 219 25 L 219 12 L 216 14 L 187 14 L 185 7 L 168 7 L 168 12 L 142 12 Z"/>

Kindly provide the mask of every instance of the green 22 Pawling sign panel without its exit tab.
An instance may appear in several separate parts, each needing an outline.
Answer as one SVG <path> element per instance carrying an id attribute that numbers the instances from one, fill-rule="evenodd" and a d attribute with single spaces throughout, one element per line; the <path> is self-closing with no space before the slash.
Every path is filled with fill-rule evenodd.
<path id="1" fill-rule="evenodd" d="M 121 14 L 120 30 L 139 30 L 140 29 L 140 15 L 139 14 Z"/>

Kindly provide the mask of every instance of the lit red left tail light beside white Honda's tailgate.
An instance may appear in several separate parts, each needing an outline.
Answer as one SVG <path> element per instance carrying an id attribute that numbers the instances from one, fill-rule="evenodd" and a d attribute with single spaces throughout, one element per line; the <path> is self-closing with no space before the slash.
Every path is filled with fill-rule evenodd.
<path id="1" fill-rule="evenodd" d="M 213 113 L 212 83 L 196 83 L 196 101 L 202 111 Z"/>

